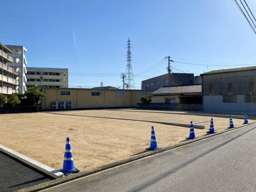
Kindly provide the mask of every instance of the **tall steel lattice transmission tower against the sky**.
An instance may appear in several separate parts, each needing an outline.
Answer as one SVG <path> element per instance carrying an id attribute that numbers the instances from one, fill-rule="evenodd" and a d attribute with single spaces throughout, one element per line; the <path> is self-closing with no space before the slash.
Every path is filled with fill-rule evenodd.
<path id="1" fill-rule="evenodd" d="M 133 73 L 132 73 L 132 52 L 131 52 L 130 37 L 128 37 L 128 41 L 127 41 L 127 60 L 126 61 L 127 61 L 126 72 L 125 72 L 126 89 L 135 89 Z"/>

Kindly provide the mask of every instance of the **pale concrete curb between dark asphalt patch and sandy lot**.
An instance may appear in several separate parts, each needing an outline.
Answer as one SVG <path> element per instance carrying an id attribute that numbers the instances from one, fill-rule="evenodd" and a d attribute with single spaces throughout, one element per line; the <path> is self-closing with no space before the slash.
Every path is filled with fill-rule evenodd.
<path id="1" fill-rule="evenodd" d="M 22 161 L 25 164 L 30 165 L 31 167 L 36 168 L 37 170 L 46 173 L 47 175 L 50 175 L 51 177 L 58 179 L 63 177 L 63 173 L 59 172 L 58 170 L 53 169 L 52 167 L 49 167 L 45 164 L 42 164 L 34 159 L 29 158 L 28 156 L 22 155 L 21 153 L 18 153 L 17 151 L 14 151 L 10 148 L 7 148 L 3 145 L 0 145 L 0 151 L 16 158 Z"/>

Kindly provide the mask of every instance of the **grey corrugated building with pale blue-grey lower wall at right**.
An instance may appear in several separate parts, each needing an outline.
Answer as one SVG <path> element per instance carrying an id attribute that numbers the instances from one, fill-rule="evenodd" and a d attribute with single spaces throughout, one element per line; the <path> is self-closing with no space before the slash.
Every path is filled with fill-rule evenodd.
<path id="1" fill-rule="evenodd" d="M 201 74 L 204 111 L 256 113 L 256 66 Z"/>

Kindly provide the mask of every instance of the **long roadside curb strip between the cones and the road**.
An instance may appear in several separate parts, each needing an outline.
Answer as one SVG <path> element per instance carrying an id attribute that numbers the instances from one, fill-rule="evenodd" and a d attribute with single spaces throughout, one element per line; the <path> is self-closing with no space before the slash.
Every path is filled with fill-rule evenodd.
<path id="1" fill-rule="evenodd" d="M 45 182 L 45 183 L 42 183 L 42 184 L 39 184 L 39 185 L 36 185 L 36 186 L 33 186 L 33 187 L 21 189 L 21 190 L 18 190 L 17 192 L 40 191 L 40 190 L 43 190 L 43 189 L 46 189 L 46 188 L 50 188 L 50 187 L 53 187 L 53 186 L 56 186 L 56 185 L 60 185 L 62 183 L 66 183 L 68 181 L 76 180 L 76 179 L 79 179 L 79 178 L 82 178 L 82 177 L 85 177 L 85 176 L 88 176 L 88 175 L 91 175 L 91 174 L 94 174 L 94 173 L 97 173 L 97 172 L 101 172 L 101 171 L 104 171 L 104 170 L 107 170 L 107 169 L 110 169 L 110 168 L 113 168 L 113 167 L 116 167 L 116 166 L 119 166 L 119 165 L 130 163 L 132 161 L 136 161 L 136 160 L 142 159 L 142 158 L 147 157 L 147 156 L 156 155 L 158 153 L 162 153 L 162 152 L 174 149 L 174 148 L 178 148 L 178 147 L 190 144 L 190 143 L 194 143 L 196 141 L 200 141 L 200 140 L 203 140 L 203 139 L 206 139 L 206 138 L 209 138 L 209 137 L 213 137 L 213 136 L 216 136 L 216 135 L 219 135 L 219 134 L 222 134 L 222 133 L 225 133 L 225 132 L 229 132 L 229 131 L 232 131 L 232 130 L 235 130 L 235 129 L 238 129 L 238 128 L 241 128 L 241 127 L 244 127 L 244 126 L 252 125 L 252 124 L 256 124 L 256 122 L 250 123 L 250 124 L 245 124 L 243 126 L 236 127 L 236 128 L 227 129 L 227 130 L 224 130 L 224 131 L 221 131 L 221 132 L 216 132 L 214 134 L 208 134 L 208 135 L 199 137 L 199 138 L 194 139 L 194 140 L 184 141 L 184 142 L 178 143 L 178 144 L 170 146 L 170 147 L 158 149 L 156 151 L 150 151 L 150 152 L 147 152 L 147 153 L 136 155 L 136 156 L 130 157 L 128 159 L 124 159 L 124 160 L 121 160 L 121 161 L 116 161 L 114 163 L 103 165 L 103 166 L 100 166 L 100 167 L 97 167 L 97 168 L 94 168 L 94 169 L 91 169 L 91 170 L 88 170 L 88 171 L 82 171 L 82 172 L 72 174 L 72 175 L 69 175 L 67 177 L 57 179 L 57 180 L 52 180 L 52 181 L 48 181 L 48 182 Z"/>

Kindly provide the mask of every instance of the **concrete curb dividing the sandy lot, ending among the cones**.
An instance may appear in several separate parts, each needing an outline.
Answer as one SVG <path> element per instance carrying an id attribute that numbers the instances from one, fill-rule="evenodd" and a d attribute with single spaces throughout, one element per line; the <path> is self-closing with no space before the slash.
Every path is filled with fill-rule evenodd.
<path id="1" fill-rule="evenodd" d="M 44 113 L 44 112 L 42 112 Z M 50 112 L 47 112 L 50 113 Z M 183 123 L 172 123 L 172 122 L 162 122 L 162 121 L 150 121 L 150 120 L 142 120 L 142 119 L 126 119 L 126 118 L 118 118 L 118 117 L 102 117 L 102 116 L 89 116 L 89 115 L 72 115 L 72 114 L 61 114 L 61 113 L 50 113 L 55 115 L 69 115 L 69 116 L 81 116 L 81 117 L 95 117 L 95 118 L 105 118 L 105 119 L 118 119 L 118 120 L 129 120 L 129 121 L 142 121 L 142 122 L 149 122 L 149 123 L 159 123 L 159 124 L 166 124 L 166 125 L 175 125 L 180 127 L 189 127 L 190 124 L 183 124 Z M 205 129 L 204 125 L 194 125 L 196 129 Z"/>

